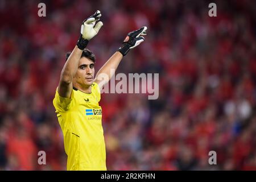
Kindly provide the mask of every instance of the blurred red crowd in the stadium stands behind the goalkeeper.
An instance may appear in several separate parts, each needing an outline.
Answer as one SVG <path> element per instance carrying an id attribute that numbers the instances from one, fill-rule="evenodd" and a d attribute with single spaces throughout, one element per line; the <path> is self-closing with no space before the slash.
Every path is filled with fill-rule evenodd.
<path id="1" fill-rule="evenodd" d="M 66 169 L 52 100 L 65 53 L 96 10 L 104 22 L 88 46 L 96 71 L 127 32 L 147 26 L 118 72 L 160 79 L 158 100 L 102 94 L 108 169 L 255 169 L 255 1 L 42 1 L 39 18 L 40 2 L 0 1 L 0 169 Z M 210 2 L 217 17 L 208 16 Z M 47 165 L 38 164 L 40 150 Z"/>

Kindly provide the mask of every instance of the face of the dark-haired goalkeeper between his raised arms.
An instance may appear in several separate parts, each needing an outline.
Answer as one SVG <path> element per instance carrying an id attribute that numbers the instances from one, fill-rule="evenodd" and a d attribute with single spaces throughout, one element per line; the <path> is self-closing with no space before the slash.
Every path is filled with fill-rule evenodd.
<path id="1" fill-rule="evenodd" d="M 81 86 L 90 86 L 94 80 L 94 63 L 87 57 L 82 57 L 74 80 Z"/>

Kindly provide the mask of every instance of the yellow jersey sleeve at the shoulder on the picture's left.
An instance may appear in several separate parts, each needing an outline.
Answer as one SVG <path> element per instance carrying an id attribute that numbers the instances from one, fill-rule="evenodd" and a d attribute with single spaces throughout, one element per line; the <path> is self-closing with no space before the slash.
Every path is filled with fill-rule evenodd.
<path id="1" fill-rule="evenodd" d="M 58 88 L 57 88 L 58 89 Z M 65 112 L 71 109 L 73 105 L 74 93 L 73 90 L 71 92 L 71 98 L 61 97 L 56 89 L 55 97 L 53 99 L 53 106 L 56 111 Z"/>

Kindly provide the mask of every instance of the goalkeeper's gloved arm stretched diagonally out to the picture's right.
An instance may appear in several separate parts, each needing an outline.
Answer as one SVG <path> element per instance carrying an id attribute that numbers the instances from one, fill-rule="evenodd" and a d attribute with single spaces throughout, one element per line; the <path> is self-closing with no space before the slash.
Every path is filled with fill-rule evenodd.
<path id="1" fill-rule="evenodd" d="M 125 56 L 130 49 L 137 47 L 144 41 L 144 37 L 142 35 L 146 35 L 146 30 L 147 27 L 142 27 L 130 32 L 123 41 L 122 46 L 119 47 L 118 51 L 115 52 L 114 55 L 112 55 L 101 67 L 94 79 L 94 82 L 97 82 L 100 89 L 102 89 L 103 86 L 112 78 L 123 56 Z"/>

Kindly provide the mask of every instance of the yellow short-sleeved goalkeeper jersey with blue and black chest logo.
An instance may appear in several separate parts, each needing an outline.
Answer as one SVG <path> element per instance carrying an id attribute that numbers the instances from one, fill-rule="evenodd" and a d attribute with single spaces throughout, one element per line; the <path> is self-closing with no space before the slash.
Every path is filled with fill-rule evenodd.
<path id="1" fill-rule="evenodd" d="M 71 98 L 55 93 L 53 105 L 63 131 L 67 170 L 106 170 L 106 149 L 96 82 L 90 94 L 73 88 Z"/>

